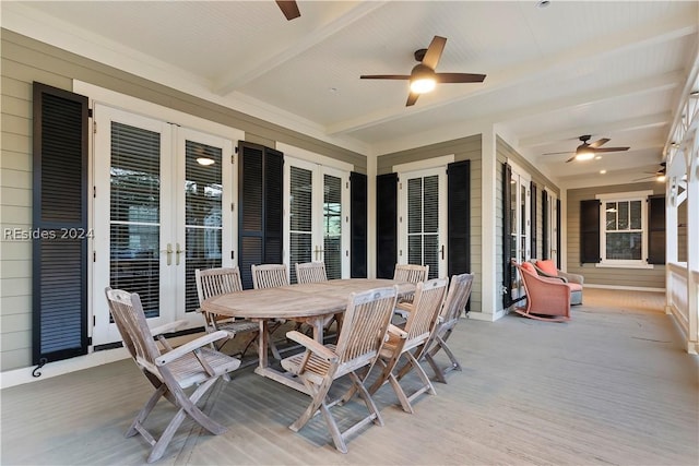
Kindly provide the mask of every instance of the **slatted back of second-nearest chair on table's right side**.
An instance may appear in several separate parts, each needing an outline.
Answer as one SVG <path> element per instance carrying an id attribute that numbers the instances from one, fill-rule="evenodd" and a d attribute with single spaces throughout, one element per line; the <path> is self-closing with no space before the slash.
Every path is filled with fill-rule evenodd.
<path id="1" fill-rule="evenodd" d="M 403 328 L 407 333 L 406 347 L 415 342 L 427 339 L 431 334 L 445 301 L 448 284 L 447 278 L 434 278 L 417 284 L 413 310 L 408 313 Z"/>

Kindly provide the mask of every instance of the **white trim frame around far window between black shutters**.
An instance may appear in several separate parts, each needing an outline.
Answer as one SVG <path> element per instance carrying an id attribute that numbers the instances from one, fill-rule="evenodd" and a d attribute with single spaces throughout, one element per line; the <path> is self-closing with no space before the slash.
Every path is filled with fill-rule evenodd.
<path id="1" fill-rule="evenodd" d="M 645 200 L 649 195 L 652 195 L 652 190 L 645 191 L 630 191 L 630 192 L 617 192 L 596 194 L 595 199 L 600 201 L 600 255 L 602 262 L 595 264 L 599 268 L 653 268 L 653 264 L 649 264 L 645 260 L 648 258 L 648 203 Z M 608 260 L 606 255 L 606 215 L 604 214 L 604 204 L 608 201 L 625 202 L 625 201 L 641 201 L 641 259 L 638 261 L 619 261 Z"/>

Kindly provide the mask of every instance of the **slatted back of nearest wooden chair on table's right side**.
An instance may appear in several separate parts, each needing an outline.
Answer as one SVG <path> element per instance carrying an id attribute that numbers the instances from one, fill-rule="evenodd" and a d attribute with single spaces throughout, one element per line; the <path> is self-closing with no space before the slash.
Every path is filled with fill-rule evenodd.
<path id="1" fill-rule="evenodd" d="M 393 314 L 398 287 L 353 292 L 344 313 L 335 354 L 340 363 L 378 355 Z"/>

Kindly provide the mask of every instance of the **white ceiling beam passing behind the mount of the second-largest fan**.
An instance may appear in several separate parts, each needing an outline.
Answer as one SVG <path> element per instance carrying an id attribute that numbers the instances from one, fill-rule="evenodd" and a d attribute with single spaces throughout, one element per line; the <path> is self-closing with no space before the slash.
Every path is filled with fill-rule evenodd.
<path id="1" fill-rule="evenodd" d="M 664 111 L 662 113 L 648 115 L 645 117 L 638 117 L 618 121 L 611 121 L 604 124 L 596 124 L 587 127 L 585 131 L 590 134 L 601 134 L 603 132 L 616 132 L 616 131 L 635 131 L 644 130 L 649 128 L 662 127 L 670 124 L 672 121 L 672 113 Z M 548 145 L 559 142 L 570 141 L 580 135 L 580 127 L 568 128 L 561 131 L 543 132 L 529 138 L 520 139 L 520 147 L 536 147 L 541 145 Z"/>

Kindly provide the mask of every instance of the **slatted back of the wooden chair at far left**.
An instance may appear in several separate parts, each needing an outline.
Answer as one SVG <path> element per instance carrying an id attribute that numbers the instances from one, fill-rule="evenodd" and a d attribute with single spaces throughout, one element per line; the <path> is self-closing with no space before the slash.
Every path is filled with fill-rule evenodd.
<path id="1" fill-rule="evenodd" d="M 122 289 L 107 288 L 105 292 L 109 312 L 131 357 L 141 368 L 157 374 L 155 359 L 161 356 L 161 350 L 151 336 L 141 298 Z"/>

